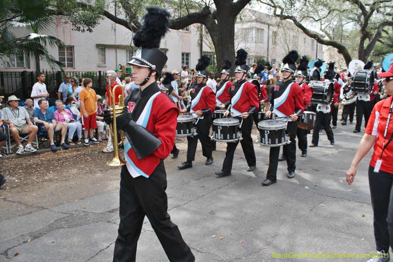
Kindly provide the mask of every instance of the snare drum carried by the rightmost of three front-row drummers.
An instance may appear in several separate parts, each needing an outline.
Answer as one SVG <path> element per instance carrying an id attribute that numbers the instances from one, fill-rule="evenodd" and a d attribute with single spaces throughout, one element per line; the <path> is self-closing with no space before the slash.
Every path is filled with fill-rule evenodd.
<path id="1" fill-rule="evenodd" d="M 278 119 L 265 120 L 258 123 L 260 135 L 259 144 L 262 146 L 282 146 L 289 143 L 285 134 L 286 122 Z"/>

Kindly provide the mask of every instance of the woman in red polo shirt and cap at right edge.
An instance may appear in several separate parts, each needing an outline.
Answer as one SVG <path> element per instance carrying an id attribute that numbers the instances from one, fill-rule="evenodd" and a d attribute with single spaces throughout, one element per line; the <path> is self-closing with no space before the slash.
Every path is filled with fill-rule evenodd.
<path id="1" fill-rule="evenodd" d="M 346 173 L 346 181 L 352 184 L 359 162 L 371 147 L 374 152 L 368 168 L 368 181 L 372 210 L 374 213 L 374 237 L 377 253 L 369 261 L 387 262 L 390 260 L 389 248 L 393 248 L 393 64 L 388 72 L 379 73 L 385 77 L 382 85 L 391 97 L 379 101 L 373 108 L 365 135 L 358 151 Z"/>

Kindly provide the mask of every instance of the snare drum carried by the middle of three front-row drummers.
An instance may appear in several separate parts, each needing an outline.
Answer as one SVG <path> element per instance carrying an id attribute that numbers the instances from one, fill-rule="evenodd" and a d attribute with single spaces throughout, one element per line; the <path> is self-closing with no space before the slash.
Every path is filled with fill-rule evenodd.
<path id="1" fill-rule="evenodd" d="M 213 121 L 212 139 L 217 142 L 237 142 L 242 140 L 239 120 L 235 118 L 219 118 Z"/>

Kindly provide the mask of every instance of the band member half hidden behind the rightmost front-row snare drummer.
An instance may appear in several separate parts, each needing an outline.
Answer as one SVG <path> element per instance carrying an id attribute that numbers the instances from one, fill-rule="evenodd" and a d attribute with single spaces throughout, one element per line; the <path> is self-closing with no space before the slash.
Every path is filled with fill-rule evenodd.
<path id="1" fill-rule="evenodd" d="M 300 87 L 303 87 L 303 101 L 304 101 L 304 111 L 307 111 L 307 106 L 311 102 L 311 97 L 313 93 L 312 87 L 309 87 L 309 85 L 306 84 L 306 79 L 307 79 L 307 68 L 309 65 L 309 59 L 306 58 L 306 56 L 303 56 L 302 59 L 300 59 L 299 66 L 298 66 L 298 71 L 295 73 L 295 82 L 298 84 Z M 302 150 L 302 157 L 307 156 L 307 133 L 309 131 L 298 128 L 296 132 L 296 136 L 298 137 L 298 146 L 299 149 Z"/>

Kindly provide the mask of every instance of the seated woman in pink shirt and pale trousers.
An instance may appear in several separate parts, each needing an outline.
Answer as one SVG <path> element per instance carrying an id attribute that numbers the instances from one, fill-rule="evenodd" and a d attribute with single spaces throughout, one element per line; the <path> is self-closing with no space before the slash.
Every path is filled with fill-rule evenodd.
<path id="1" fill-rule="evenodd" d="M 70 98 L 70 97 L 68 97 L 68 98 Z M 75 131 L 77 131 L 77 135 L 78 135 L 77 144 L 80 145 L 82 143 L 82 123 L 77 122 L 74 119 L 74 117 L 72 116 L 71 111 L 64 108 L 63 101 L 57 100 L 55 102 L 55 104 L 56 104 L 56 108 L 57 108 L 57 110 L 54 113 L 56 122 L 57 123 L 62 123 L 62 122 L 67 123 L 68 138 L 66 140 L 66 143 L 70 146 L 75 146 L 75 144 L 72 142 L 72 139 L 74 138 Z"/>

